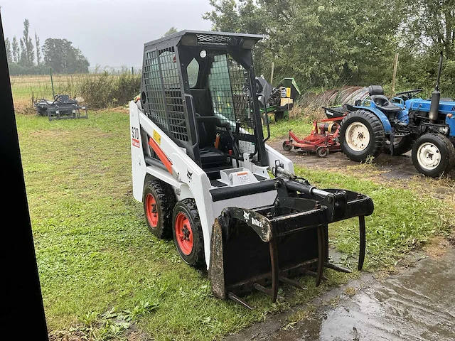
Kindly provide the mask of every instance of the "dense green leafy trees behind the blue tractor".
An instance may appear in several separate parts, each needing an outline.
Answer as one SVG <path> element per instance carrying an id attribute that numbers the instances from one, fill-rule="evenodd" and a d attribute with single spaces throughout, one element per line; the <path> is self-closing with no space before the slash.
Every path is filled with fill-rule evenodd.
<path id="1" fill-rule="evenodd" d="M 295 77 L 304 89 L 378 84 L 434 86 L 443 51 L 443 94 L 455 95 L 455 0 L 210 0 L 214 31 L 265 34 L 256 73 Z M 388 87 L 388 88 L 387 88 Z"/>

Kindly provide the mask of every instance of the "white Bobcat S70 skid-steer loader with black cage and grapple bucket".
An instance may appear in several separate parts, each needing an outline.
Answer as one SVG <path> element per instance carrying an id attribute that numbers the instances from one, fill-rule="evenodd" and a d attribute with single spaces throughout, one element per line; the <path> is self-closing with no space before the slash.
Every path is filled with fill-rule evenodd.
<path id="1" fill-rule="evenodd" d="M 328 224 L 359 220 L 365 256 L 370 197 L 312 186 L 265 144 L 252 49 L 262 36 L 182 31 L 144 45 L 140 99 L 130 102 L 133 195 L 183 261 L 205 267 L 212 291 L 278 296 L 279 283 L 329 263 Z M 267 122 L 266 122 L 267 123 Z"/>

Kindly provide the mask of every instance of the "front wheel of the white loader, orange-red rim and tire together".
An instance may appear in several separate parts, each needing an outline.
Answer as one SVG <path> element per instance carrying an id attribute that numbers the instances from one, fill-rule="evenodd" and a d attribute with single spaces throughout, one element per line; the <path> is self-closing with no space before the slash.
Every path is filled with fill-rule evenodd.
<path id="1" fill-rule="evenodd" d="M 177 202 L 173 209 L 173 241 L 186 264 L 205 266 L 204 242 L 198 208 L 193 199 Z"/>

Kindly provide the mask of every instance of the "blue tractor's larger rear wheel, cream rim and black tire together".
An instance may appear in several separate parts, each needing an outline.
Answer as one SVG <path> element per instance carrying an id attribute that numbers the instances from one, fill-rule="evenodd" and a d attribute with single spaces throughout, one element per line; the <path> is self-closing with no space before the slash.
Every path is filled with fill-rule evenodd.
<path id="1" fill-rule="evenodd" d="M 352 161 L 366 161 L 384 150 L 385 133 L 380 119 L 367 110 L 350 112 L 340 128 L 341 151 Z"/>

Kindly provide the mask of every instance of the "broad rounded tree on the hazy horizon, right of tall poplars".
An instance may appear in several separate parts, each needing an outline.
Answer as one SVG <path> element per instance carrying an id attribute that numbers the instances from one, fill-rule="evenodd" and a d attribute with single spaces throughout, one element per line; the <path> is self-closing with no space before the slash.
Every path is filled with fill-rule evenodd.
<path id="1" fill-rule="evenodd" d="M 43 45 L 45 65 L 52 67 L 55 73 L 88 72 L 90 63 L 73 43 L 66 39 L 48 38 Z"/>

